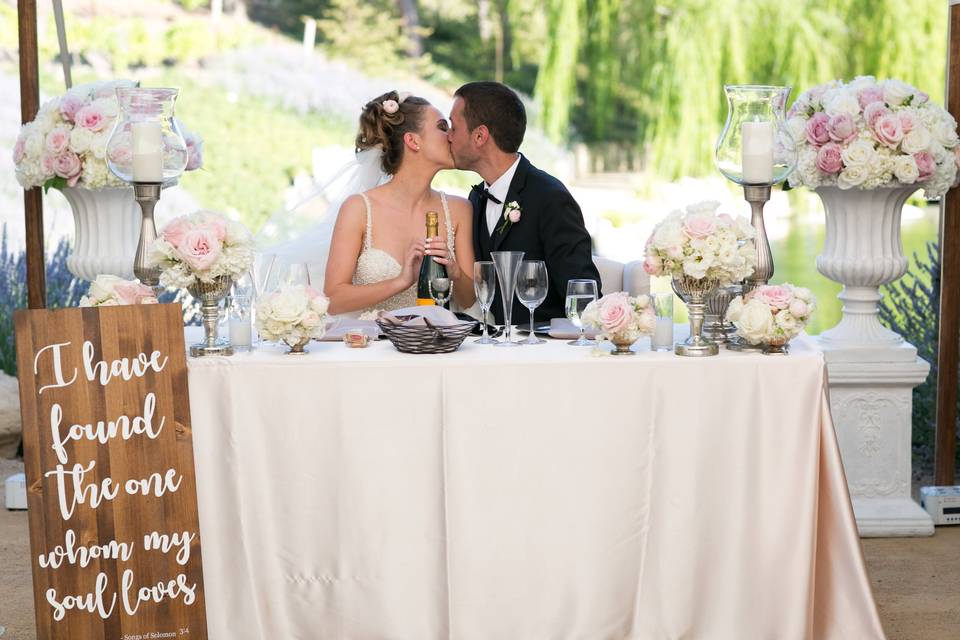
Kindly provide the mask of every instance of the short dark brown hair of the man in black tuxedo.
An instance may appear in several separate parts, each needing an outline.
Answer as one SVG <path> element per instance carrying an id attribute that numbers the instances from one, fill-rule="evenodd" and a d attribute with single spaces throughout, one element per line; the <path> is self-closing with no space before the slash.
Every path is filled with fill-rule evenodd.
<path id="1" fill-rule="evenodd" d="M 454 96 L 463 98 L 463 115 L 474 130 L 486 125 L 504 153 L 516 153 L 527 130 L 527 112 L 514 91 L 499 82 L 468 82 Z"/>

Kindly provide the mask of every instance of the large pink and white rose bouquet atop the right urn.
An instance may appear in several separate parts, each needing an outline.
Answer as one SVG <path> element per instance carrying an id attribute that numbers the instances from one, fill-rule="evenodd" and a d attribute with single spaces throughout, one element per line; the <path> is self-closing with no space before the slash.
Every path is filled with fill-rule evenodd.
<path id="1" fill-rule="evenodd" d="M 797 143 L 790 186 L 876 189 L 923 186 L 939 198 L 957 180 L 957 122 L 900 80 L 860 76 L 804 91 L 787 115 Z"/>

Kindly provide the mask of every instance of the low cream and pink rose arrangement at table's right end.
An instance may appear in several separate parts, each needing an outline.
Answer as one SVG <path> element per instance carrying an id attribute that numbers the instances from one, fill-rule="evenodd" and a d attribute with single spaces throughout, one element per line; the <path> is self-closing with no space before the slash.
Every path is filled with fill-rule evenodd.
<path id="1" fill-rule="evenodd" d="M 816 308 L 817 299 L 809 289 L 768 284 L 734 298 L 726 320 L 750 344 L 783 345 L 803 331 Z"/>

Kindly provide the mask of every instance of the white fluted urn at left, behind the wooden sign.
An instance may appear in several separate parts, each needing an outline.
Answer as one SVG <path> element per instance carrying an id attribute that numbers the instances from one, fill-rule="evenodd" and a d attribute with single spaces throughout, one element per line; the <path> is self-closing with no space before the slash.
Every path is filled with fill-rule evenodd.
<path id="1" fill-rule="evenodd" d="M 140 206 L 131 187 L 61 189 L 73 210 L 75 236 L 67 258 L 70 273 L 84 280 L 100 274 L 133 278 L 140 236 Z"/>

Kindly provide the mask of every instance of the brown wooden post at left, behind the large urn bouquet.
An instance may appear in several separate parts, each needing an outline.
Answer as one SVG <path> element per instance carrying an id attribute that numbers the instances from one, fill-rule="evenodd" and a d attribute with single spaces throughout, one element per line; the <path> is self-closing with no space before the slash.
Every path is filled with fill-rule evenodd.
<path id="1" fill-rule="evenodd" d="M 20 37 L 20 119 L 27 123 L 40 108 L 40 78 L 37 66 L 37 2 L 17 0 Z M 27 236 L 27 302 L 31 309 L 47 306 L 47 283 L 43 255 L 43 193 L 39 188 L 23 192 Z"/>

